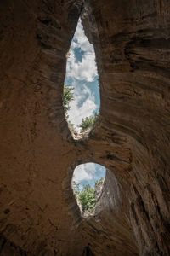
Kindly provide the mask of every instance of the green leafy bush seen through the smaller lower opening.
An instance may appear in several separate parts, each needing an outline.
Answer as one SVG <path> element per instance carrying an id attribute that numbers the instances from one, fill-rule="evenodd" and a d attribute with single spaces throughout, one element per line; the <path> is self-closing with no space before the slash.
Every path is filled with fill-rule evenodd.
<path id="1" fill-rule="evenodd" d="M 82 211 L 92 212 L 95 207 L 94 189 L 88 184 L 84 185 L 81 192 L 78 193 L 78 200 L 82 205 Z"/>

